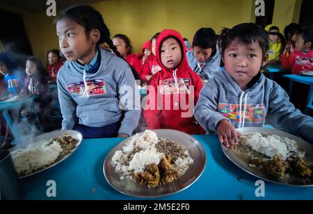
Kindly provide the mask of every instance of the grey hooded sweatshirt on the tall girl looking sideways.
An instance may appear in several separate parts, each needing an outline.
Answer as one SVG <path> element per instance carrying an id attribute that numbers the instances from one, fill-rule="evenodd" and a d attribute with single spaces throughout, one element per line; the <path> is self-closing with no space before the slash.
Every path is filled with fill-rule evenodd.
<path id="1" fill-rule="evenodd" d="M 58 72 L 62 129 L 73 129 L 77 122 L 102 127 L 122 120 L 118 133 L 131 135 L 141 117 L 136 81 L 125 60 L 104 49 L 99 53 L 101 64 L 95 74 L 70 61 Z"/>

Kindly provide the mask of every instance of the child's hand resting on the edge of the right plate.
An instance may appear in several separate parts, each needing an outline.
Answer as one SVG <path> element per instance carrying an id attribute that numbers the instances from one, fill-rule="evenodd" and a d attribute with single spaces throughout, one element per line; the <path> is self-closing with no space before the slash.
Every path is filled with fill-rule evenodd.
<path id="1" fill-rule="evenodd" d="M 218 140 L 227 148 L 234 148 L 234 145 L 238 145 L 238 136 L 241 135 L 239 131 L 236 131 L 234 126 L 228 120 L 221 120 L 217 125 Z"/>

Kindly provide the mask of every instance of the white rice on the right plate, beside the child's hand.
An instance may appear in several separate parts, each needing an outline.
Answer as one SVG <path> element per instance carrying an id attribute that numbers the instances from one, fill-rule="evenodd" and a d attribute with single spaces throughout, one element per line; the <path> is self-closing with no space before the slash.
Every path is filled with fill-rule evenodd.
<path id="1" fill-rule="evenodd" d="M 262 136 L 261 133 L 254 133 L 250 135 L 241 136 L 241 142 L 248 145 L 251 149 L 264 154 L 270 158 L 273 156 L 280 156 L 283 160 L 290 158 L 297 154 L 301 158 L 304 152 L 298 149 L 297 142 L 289 138 L 282 138 L 278 135 L 268 134 Z"/>

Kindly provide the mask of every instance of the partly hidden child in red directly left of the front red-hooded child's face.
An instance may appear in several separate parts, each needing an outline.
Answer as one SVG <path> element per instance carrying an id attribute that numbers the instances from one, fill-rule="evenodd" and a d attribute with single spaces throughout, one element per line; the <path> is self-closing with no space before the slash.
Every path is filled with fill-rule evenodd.
<path id="1" fill-rule="evenodd" d="M 151 38 L 151 51 L 152 55 L 150 58 L 146 60 L 145 65 L 143 66 L 143 72 L 141 73 L 141 80 L 148 82 L 152 75 L 157 74 L 157 72 L 161 71 L 161 67 L 159 66 L 157 62 L 157 57 L 156 57 L 156 43 L 157 43 L 157 38 L 158 38 L 159 33 L 156 33 L 152 38 Z"/>

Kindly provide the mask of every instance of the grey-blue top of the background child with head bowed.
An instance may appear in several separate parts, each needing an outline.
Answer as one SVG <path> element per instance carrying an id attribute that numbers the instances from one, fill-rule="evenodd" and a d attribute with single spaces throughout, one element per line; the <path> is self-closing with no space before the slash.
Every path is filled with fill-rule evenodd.
<path id="1" fill-rule="evenodd" d="M 188 60 L 189 67 L 195 72 L 198 65 L 198 60 L 193 56 L 193 50 L 190 50 L 186 53 L 186 58 Z M 205 61 L 205 65 L 203 69 L 197 69 L 196 72 L 201 79 L 211 79 L 216 72 L 220 71 L 220 48 L 216 45 L 216 53 L 214 56 L 210 56 L 207 61 Z"/>

